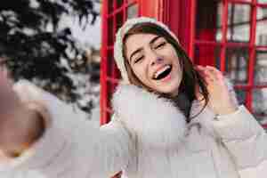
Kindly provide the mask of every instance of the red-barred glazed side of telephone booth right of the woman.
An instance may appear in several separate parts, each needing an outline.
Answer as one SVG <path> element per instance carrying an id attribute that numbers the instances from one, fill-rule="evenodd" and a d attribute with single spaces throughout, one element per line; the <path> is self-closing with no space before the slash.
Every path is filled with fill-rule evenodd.
<path id="1" fill-rule="evenodd" d="M 267 1 L 190 0 L 190 13 L 192 61 L 223 71 L 267 128 Z"/>

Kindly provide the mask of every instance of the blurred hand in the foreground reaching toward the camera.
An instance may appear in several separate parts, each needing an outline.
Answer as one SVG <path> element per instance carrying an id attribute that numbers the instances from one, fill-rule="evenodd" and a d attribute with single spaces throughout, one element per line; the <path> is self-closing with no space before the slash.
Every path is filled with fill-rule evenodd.
<path id="1" fill-rule="evenodd" d="M 18 156 L 42 134 L 43 121 L 28 109 L 12 90 L 12 80 L 0 69 L 0 150 L 7 157 Z"/>

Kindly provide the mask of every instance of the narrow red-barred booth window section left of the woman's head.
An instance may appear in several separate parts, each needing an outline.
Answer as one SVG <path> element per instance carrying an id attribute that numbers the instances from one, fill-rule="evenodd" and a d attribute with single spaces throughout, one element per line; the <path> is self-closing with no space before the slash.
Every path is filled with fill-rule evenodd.
<path id="1" fill-rule="evenodd" d="M 117 29 L 125 20 L 139 15 L 137 0 L 104 0 L 102 2 L 102 44 L 101 44 L 101 125 L 109 122 L 112 110 L 111 94 L 120 78 L 113 59 L 113 44 Z"/>

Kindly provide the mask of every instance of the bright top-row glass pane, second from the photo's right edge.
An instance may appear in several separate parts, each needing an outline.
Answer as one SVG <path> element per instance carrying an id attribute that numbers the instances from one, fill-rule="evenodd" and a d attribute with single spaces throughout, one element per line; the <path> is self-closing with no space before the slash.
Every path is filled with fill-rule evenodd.
<path id="1" fill-rule="evenodd" d="M 249 42 L 250 9 L 247 4 L 229 4 L 228 41 Z"/>

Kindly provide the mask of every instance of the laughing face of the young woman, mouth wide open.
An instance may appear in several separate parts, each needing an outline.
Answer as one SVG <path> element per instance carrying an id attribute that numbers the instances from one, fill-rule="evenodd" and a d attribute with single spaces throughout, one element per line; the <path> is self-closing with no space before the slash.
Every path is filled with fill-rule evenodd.
<path id="1" fill-rule="evenodd" d="M 125 55 L 143 85 L 159 93 L 176 95 L 182 69 L 172 44 L 162 36 L 135 34 L 125 41 Z"/>

